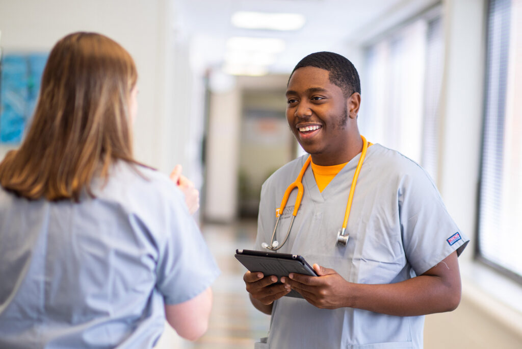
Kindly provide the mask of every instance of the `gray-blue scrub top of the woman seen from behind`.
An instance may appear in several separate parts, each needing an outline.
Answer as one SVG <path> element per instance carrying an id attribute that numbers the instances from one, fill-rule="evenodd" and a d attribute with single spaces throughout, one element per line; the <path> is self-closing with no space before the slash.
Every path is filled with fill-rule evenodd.
<path id="1" fill-rule="evenodd" d="M 183 193 L 137 168 L 118 162 L 80 203 L 0 187 L 0 348 L 151 348 L 164 304 L 215 280 Z"/>

